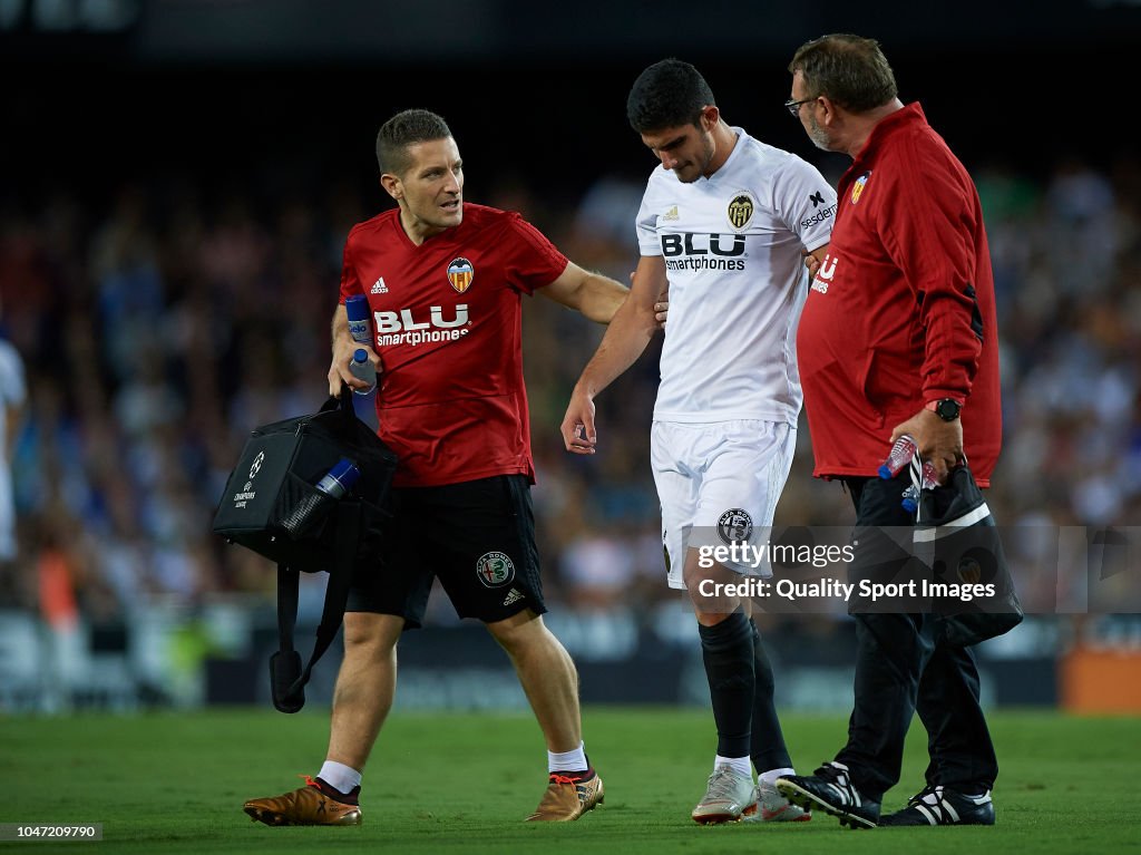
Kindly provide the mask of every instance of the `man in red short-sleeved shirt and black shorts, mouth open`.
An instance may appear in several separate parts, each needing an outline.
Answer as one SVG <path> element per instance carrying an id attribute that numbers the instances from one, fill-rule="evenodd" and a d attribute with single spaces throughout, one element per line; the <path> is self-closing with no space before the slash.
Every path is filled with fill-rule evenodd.
<path id="1" fill-rule="evenodd" d="M 396 643 L 419 627 L 439 578 L 461 618 L 507 651 L 548 749 L 548 789 L 528 820 L 577 820 L 602 801 L 586 759 L 578 676 L 540 615 L 529 489 L 535 479 L 523 380 L 521 297 L 541 293 L 608 323 L 626 289 L 569 261 L 518 213 L 466 203 L 446 122 L 426 110 L 377 137 L 380 183 L 397 209 L 356 225 L 345 244 L 329 392 L 361 345 L 345 299 L 373 321 L 378 433 L 396 452 L 393 534 L 383 567 L 358 574 L 345 615 L 329 752 L 316 779 L 245 812 L 269 825 L 356 825 L 365 761 L 396 687 Z M 445 538 L 427 534 L 446 521 Z"/>

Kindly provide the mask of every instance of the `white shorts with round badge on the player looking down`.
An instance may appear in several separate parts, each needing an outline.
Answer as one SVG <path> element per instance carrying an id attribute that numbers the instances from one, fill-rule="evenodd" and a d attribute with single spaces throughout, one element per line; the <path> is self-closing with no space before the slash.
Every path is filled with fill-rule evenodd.
<path id="1" fill-rule="evenodd" d="M 785 422 L 654 422 L 650 462 L 671 588 L 686 587 L 682 568 L 690 548 L 763 546 L 795 447 L 796 428 Z M 763 551 L 718 563 L 744 575 L 770 576 L 769 562 L 759 555 Z"/>

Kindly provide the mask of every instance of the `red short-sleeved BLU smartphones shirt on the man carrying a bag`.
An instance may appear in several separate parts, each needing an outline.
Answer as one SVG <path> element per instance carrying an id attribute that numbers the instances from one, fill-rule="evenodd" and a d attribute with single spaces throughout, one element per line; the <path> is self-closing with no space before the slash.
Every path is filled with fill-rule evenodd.
<path id="1" fill-rule="evenodd" d="M 419 247 L 396 209 L 353 227 L 340 299 L 363 293 L 372 309 L 377 433 L 399 458 L 394 485 L 534 482 L 520 297 L 567 264 L 518 213 L 478 204 Z"/>

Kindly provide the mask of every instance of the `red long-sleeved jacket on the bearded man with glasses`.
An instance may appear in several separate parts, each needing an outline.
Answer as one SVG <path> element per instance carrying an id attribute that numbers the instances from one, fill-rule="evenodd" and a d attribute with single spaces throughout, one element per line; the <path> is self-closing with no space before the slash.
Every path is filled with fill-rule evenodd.
<path id="1" fill-rule="evenodd" d="M 875 475 L 929 401 L 963 406 L 980 486 L 1002 444 L 994 279 L 979 195 L 917 103 L 844 172 L 828 255 L 796 337 L 819 477 Z"/>

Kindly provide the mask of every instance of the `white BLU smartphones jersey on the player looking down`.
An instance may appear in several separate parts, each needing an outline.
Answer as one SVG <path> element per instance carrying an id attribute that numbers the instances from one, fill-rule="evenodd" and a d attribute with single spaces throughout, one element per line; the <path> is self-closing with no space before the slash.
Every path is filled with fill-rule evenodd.
<path id="1" fill-rule="evenodd" d="M 638 212 L 641 255 L 662 256 L 670 280 L 654 418 L 795 425 L 801 252 L 828 242 L 836 193 L 812 164 L 733 130 L 711 178 L 682 184 L 659 166 Z"/>

